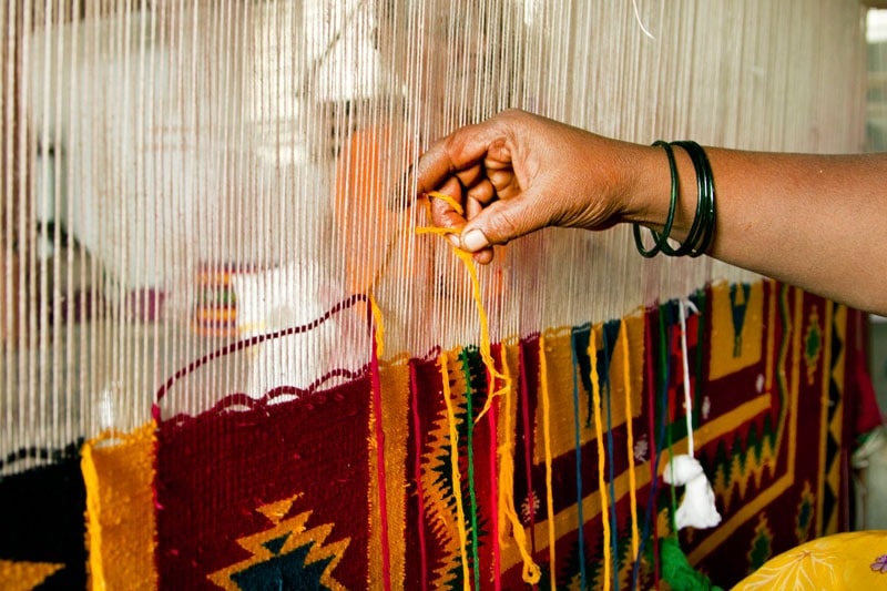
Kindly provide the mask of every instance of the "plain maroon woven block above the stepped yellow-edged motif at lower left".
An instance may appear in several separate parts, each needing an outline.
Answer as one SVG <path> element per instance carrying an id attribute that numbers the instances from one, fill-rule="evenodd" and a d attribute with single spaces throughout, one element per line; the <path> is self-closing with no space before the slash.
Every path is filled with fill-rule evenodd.
<path id="1" fill-rule="evenodd" d="M 348 539 L 333 572 L 366 587 L 369 377 L 279 404 L 163 421 L 157 450 L 161 589 L 218 589 L 207 577 L 246 561 L 238 540 L 273 523 L 259 508 L 297 496 L 317 544 Z"/>

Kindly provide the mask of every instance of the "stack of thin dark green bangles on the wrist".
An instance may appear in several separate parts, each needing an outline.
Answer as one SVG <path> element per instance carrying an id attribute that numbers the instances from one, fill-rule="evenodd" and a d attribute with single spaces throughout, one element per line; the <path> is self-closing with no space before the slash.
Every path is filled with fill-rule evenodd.
<path id="1" fill-rule="evenodd" d="M 712 167 L 708 164 L 708 157 L 700 144 L 692 141 L 681 142 L 663 142 L 656 141 L 653 145 L 660 145 L 665 150 L 669 156 L 669 167 L 672 174 L 672 191 L 671 202 L 669 204 L 669 215 L 665 218 L 665 225 L 662 232 L 650 230 L 653 235 L 654 244 L 650 248 L 644 246 L 641 236 L 641 226 L 634 224 L 634 244 L 638 251 L 645 257 L 650 258 L 662 252 L 669 256 L 700 256 L 704 254 L 712 245 L 714 236 L 714 180 L 712 177 Z M 669 234 L 672 231 L 674 223 L 674 213 L 677 210 L 677 195 L 680 194 L 680 183 L 677 181 L 677 164 L 674 160 L 674 152 L 672 146 L 677 145 L 683 147 L 693 161 L 693 167 L 696 170 L 696 215 L 693 217 L 693 224 L 690 226 L 690 233 L 686 240 L 679 244 L 676 247 L 669 243 Z"/>

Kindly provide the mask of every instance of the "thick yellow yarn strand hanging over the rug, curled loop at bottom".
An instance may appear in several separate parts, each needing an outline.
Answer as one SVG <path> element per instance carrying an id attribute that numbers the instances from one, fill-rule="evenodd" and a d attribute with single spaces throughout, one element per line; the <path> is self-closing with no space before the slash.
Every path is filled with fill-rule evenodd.
<path id="1" fill-rule="evenodd" d="M 508 355 L 504 347 L 501 350 L 502 370 L 506 375 L 510 376 L 508 367 Z M 504 425 L 502 426 L 503 437 L 502 442 L 497 448 L 499 456 L 499 543 L 507 544 L 504 538 L 504 528 L 502 524 L 506 519 L 511 523 L 511 532 L 514 537 L 514 542 L 518 544 L 520 558 L 523 561 L 523 581 L 529 584 L 536 584 L 542 577 L 542 571 L 539 565 L 533 562 L 530 551 L 527 549 L 527 534 L 523 530 L 523 523 L 518 518 L 518 511 L 514 508 L 514 426 L 511 424 L 511 412 L 514 404 L 514 393 L 509 389 L 503 393 L 502 400 L 504 403 Z"/>

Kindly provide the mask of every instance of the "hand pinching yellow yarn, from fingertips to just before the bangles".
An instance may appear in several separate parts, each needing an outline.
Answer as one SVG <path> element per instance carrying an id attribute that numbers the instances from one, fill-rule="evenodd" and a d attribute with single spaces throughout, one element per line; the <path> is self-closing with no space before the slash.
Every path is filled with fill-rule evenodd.
<path id="1" fill-rule="evenodd" d="M 460 204 L 463 214 L 431 198 L 431 221 L 460 231 L 453 244 L 489 263 L 492 245 L 546 226 L 604 230 L 626 221 L 638 159 L 649 152 L 506 111 L 432 144 L 415 169 L 417 193 L 440 192 Z"/>

